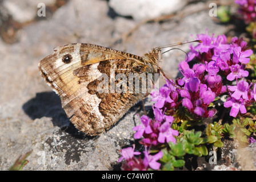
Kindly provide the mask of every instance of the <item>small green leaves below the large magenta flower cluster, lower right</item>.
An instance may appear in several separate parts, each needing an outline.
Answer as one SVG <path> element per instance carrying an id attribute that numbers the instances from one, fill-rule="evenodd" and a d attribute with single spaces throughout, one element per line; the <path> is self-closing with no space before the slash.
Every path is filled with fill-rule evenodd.
<path id="1" fill-rule="evenodd" d="M 175 167 L 185 165 L 185 155 L 206 156 L 208 155 L 207 146 L 223 147 L 222 139 L 224 137 L 239 138 L 242 142 L 247 142 L 247 138 L 255 133 L 256 122 L 251 118 L 235 118 L 233 123 L 210 123 L 205 131 L 189 130 L 197 125 L 197 121 L 182 120 L 182 122 L 174 122 L 172 127 L 178 130 L 180 135 L 177 138 L 177 143 L 169 143 L 169 146 L 164 148 L 163 170 L 174 170 Z"/>

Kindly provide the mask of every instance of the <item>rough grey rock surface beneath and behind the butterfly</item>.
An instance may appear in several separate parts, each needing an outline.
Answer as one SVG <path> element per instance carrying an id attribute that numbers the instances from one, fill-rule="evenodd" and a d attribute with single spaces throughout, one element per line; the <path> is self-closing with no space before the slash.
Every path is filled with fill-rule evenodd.
<path id="1" fill-rule="evenodd" d="M 19 23 L 37 16 L 39 1 L 4 0 L 0 11 Z M 43 2 L 43 1 L 40 1 Z M 57 1 L 56 1 L 57 2 Z M 59 97 L 39 75 L 38 63 L 53 48 L 69 43 L 92 43 L 143 55 L 151 48 L 194 40 L 191 34 L 224 34 L 229 27 L 215 23 L 206 2 L 183 6 L 181 12 L 202 8 L 197 13 L 174 16 L 162 23 L 142 23 L 127 39 L 124 35 L 139 23 L 124 18 L 103 0 L 64 1 L 52 14 L 35 17 L 17 31 L 17 42 L 0 40 L 0 169 L 7 170 L 19 155 L 33 150 L 24 170 L 113 170 L 122 147 L 134 142 L 132 128 L 143 114 L 139 102 L 110 130 L 98 137 L 79 133 L 66 117 Z M 23 9 L 24 3 L 27 9 Z M 46 10 L 54 1 L 45 1 Z M 14 6 L 15 5 L 15 6 Z M 17 10 L 21 10 L 17 12 Z M 2 12 L 0 12 L 2 13 Z M 19 14 L 17 14 L 19 13 Z M 179 47 L 188 51 L 189 46 Z M 178 63 L 186 59 L 181 51 L 163 56 L 161 67 L 175 78 Z M 150 109 L 147 102 L 146 109 Z"/>

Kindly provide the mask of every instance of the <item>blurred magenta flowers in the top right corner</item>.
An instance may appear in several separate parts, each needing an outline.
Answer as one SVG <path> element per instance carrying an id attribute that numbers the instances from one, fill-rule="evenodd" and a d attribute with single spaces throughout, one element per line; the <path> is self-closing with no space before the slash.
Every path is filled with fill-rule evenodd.
<path id="1" fill-rule="evenodd" d="M 235 0 L 239 6 L 238 13 L 246 24 L 256 20 L 256 1 L 255 0 Z"/>

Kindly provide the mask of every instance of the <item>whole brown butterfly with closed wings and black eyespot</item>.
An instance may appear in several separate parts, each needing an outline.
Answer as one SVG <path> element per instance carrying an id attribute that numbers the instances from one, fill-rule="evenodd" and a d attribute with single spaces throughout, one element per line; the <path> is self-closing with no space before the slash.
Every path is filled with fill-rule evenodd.
<path id="1" fill-rule="evenodd" d="M 111 71 L 126 77 L 132 74 L 134 80 L 138 78 L 140 84 L 147 84 L 139 77 L 143 73 L 161 72 L 165 76 L 158 63 L 162 57 L 161 49 L 166 47 L 170 46 L 153 48 L 140 57 L 94 44 L 69 44 L 55 48 L 52 55 L 41 60 L 39 70 L 46 83 L 61 97 L 62 107 L 71 123 L 87 135 L 98 135 L 150 92 L 150 89 L 147 92 L 139 89 L 137 93 L 111 92 Z M 99 89 L 103 76 L 110 77 L 110 81 L 103 82 L 110 92 Z M 114 79 L 112 83 L 121 84 L 122 89 L 128 90 L 129 84 L 135 89 L 134 80 Z M 124 82 L 126 86 L 122 85 Z"/>

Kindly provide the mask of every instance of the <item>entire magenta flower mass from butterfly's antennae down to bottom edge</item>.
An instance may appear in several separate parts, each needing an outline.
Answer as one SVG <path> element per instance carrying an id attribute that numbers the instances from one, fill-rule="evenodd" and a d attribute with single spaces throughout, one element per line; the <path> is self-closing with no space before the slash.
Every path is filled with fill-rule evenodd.
<path id="1" fill-rule="evenodd" d="M 182 107 L 190 114 L 190 118 L 211 118 L 217 113 L 216 109 L 209 107 L 211 102 L 227 94 L 223 105 L 231 107 L 231 117 L 237 117 L 239 111 L 245 114 L 246 107 L 255 102 L 256 85 L 245 80 L 249 75 L 245 70 L 246 64 L 253 54 L 251 49 L 247 49 L 247 43 L 237 37 L 228 43 L 225 35 L 214 37 L 200 34 L 197 39 L 202 40 L 202 43 L 190 46 L 188 59 L 179 64 L 183 77 L 173 83 L 166 79 L 165 85 L 151 92 L 151 98 L 155 101 L 154 118 L 143 115 L 141 125 L 133 128 L 136 131 L 134 139 L 142 138 L 139 143 L 145 146 L 144 158 L 134 152 L 134 148 L 123 149 L 120 159 L 126 160 L 123 169 L 160 168 L 157 160 L 162 158 L 162 151 L 150 155 L 147 148 L 176 143 L 175 137 L 178 137 L 179 132 L 172 129 L 171 125 L 174 122 L 173 115 Z M 236 84 L 231 85 L 233 82 Z"/>

